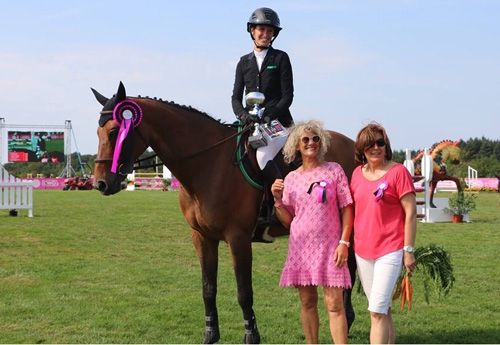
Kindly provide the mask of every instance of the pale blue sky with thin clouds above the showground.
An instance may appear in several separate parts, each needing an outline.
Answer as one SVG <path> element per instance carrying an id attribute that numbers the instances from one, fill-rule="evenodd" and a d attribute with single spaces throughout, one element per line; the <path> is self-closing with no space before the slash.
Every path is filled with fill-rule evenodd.
<path id="1" fill-rule="evenodd" d="M 129 96 L 234 121 L 234 72 L 253 49 L 246 23 L 259 7 L 281 20 L 273 46 L 292 62 L 295 121 L 321 120 L 352 139 L 376 121 L 393 150 L 500 140 L 497 0 L 0 3 L 0 118 L 71 120 L 71 152 L 97 153 L 102 106 L 90 88 L 111 97 L 120 81 Z"/>

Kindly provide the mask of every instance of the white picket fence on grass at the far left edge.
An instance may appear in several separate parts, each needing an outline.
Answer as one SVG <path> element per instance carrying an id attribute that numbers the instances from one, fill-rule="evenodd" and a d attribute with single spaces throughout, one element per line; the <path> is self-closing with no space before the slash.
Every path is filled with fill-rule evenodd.
<path id="1" fill-rule="evenodd" d="M 28 210 L 33 217 L 33 182 L 22 181 L 0 165 L 0 210 Z"/>

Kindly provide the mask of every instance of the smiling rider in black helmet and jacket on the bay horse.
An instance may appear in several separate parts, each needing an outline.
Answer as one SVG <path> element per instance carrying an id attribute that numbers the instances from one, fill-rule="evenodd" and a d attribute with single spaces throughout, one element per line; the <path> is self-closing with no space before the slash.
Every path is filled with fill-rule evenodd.
<path id="1" fill-rule="evenodd" d="M 233 112 L 245 124 L 278 120 L 289 127 L 293 124 L 289 110 L 293 101 L 292 65 L 287 53 L 271 46 L 281 31 L 278 14 L 266 7 L 256 9 L 248 20 L 247 31 L 254 43 L 253 51 L 243 55 L 236 66 L 231 97 Z M 243 107 L 243 94 L 256 91 L 265 96 L 261 104 L 262 119 Z M 278 137 L 257 149 L 257 162 L 269 188 L 276 178 L 281 178 L 269 161 L 280 152 L 285 140 L 286 136 Z"/>

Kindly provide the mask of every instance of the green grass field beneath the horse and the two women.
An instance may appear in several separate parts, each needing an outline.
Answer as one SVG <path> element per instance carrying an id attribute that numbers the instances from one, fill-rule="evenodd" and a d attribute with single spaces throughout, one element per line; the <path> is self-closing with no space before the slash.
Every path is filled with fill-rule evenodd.
<path id="1" fill-rule="evenodd" d="M 446 196 L 446 193 L 439 193 Z M 176 192 L 35 190 L 34 214 L 0 211 L 0 343 L 200 343 L 201 275 Z M 411 311 L 394 308 L 397 343 L 500 342 L 500 207 L 481 193 L 472 223 L 418 225 L 416 246 L 451 254 L 450 294 L 424 300 L 414 274 Z M 288 239 L 254 244 L 254 310 L 262 343 L 304 343 L 297 292 L 279 288 Z M 220 246 L 220 343 L 243 339 L 226 244 Z M 363 294 L 350 343 L 369 342 Z M 331 343 L 320 305 L 320 342 Z"/>

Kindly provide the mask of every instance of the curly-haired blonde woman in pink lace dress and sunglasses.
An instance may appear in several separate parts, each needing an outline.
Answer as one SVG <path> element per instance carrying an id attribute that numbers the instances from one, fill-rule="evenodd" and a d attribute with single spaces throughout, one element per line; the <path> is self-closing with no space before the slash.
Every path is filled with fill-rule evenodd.
<path id="1" fill-rule="evenodd" d="M 318 286 L 323 287 L 333 341 L 347 343 L 342 295 L 351 287 L 346 263 L 353 206 L 344 170 L 324 160 L 329 142 L 329 133 L 319 121 L 291 127 L 283 148 L 285 161 L 293 162 L 299 154 L 302 165 L 271 187 L 276 215 L 290 228 L 280 286 L 298 289 L 302 327 L 309 344 L 318 343 Z"/>

